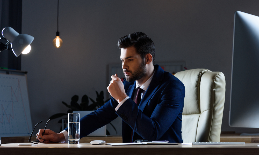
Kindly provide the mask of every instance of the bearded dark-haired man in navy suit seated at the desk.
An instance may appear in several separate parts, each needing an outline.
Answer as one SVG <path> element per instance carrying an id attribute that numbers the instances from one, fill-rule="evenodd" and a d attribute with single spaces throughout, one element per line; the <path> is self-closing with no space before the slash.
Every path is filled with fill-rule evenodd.
<path id="1" fill-rule="evenodd" d="M 107 89 L 112 98 L 80 120 L 80 138 L 119 116 L 123 142 L 147 139 L 182 143 L 183 83 L 154 65 L 155 45 L 145 33 L 120 38 L 118 47 L 125 80 L 121 82 L 117 74 L 111 77 Z M 67 142 L 67 131 L 58 134 L 46 130 L 42 136 L 40 129 L 37 138 L 45 139 L 44 143 Z"/>

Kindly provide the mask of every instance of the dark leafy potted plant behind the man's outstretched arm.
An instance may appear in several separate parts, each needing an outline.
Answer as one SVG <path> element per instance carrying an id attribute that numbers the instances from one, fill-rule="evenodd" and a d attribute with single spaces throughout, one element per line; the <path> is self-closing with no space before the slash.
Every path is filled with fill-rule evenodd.
<path id="1" fill-rule="evenodd" d="M 87 95 L 84 95 L 81 99 L 81 103 L 78 104 L 78 95 L 74 95 L 71 98 L 71 102 L 70 105 L 68 105 L 66 102 L 62 101 L 62 103 L 67 106 L 69 109 L 67 111 L 67 113 L 57 113 L 52 115 L 49 119 L 55 119 L 55 118 L 60 118 L 64 115 L 68 115 L 68 113 L 73 113 L 73 111 L 93 111 L 93 110 L 97 110 L 99 107 L 103 106 L 106 102 L 108 102 L 110 100 L 107 99 L 104 101 L 104 95 L 103 95 L 103 91 L 100 92 L 100 94 L 98 94 L 98 92 L 96 91 L 96 101 L 93 100 L 92 98 L 88 97 Z M 91 100 L 92 104 L 89 105 L 89 99 Z M 58 123 L 62 123 L 62 119 L 60 119 L 58 121 Z M 117 134 L 117 130 L 116 128 L 112 125 L 112 123 L 110 123 L 110 125 L 114 128 L 114 130 L 116 131 Z M 60 132 L 62 131 L 62 126 L 60 128 Z M 109 131 L 106 130 L 106 134 L 110 135 Z"/>

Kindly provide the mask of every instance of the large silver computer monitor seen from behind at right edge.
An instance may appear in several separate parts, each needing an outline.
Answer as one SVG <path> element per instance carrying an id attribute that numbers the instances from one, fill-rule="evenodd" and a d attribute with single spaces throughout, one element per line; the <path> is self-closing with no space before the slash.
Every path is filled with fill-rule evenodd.
<path id="1" fill-rule="evenodd" d="M 259 17 L 234 18 L 229 126 L 259 128 Z"/>

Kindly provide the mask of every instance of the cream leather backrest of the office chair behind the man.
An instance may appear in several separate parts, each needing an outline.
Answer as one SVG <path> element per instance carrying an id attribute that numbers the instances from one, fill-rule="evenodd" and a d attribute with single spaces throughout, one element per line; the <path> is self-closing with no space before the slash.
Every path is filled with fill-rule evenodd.
<path id="1" fill-rule="evenodd" d="M 190 69 L 175 76 L 185 86 L 183 142 L 219 142 L 225 103 L 224 74 L 208 69 Z"/>

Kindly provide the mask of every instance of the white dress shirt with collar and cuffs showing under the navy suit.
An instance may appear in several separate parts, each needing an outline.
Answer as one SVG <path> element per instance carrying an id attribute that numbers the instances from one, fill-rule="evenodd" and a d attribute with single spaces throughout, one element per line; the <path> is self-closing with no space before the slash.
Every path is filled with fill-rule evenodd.
<path id="1" fill-rule="evenodd" d="M 147 91 L 147 88 L 148 88 L 150 82 L 152 81 L 154 74 L 155 74 L 155 72 L 152 74 L 152 76 L 151 76 L 145 83 L 142 84 L 142 86 L 139 86 L 138 82 L 136 81 L 136 88 L 135 88 L 135 89 L 137 89 L 137 88 L 140 87 L 141 89 L 144 90 L 144 91 L 141 93 L 141 95 L 140 95 L 140 100 L 142 99 L 142 96 L 144 96 L 145 92 Z M 133 101 L 134 101 L 134 102 L 135 102 L 135 99 L 136 99 L 136 96 L 137 96 L 137 92 L 138 92 L 138 91 L 135 91 L 134 96 L 133 96 Z M 120 107 L 127 99 L 129 99 L 129 98 L 130 98 L 130 97 L 124 98 L 124 99 L 119 103 L 119 105 L 117 105 L 117 107 L 115 108 L 115 111 L 117 111 L 117 110 L 119 109 L 119 107 Z M 66 138 L 66 141 L 63 141 L 63 142 L 61 142 L 61 143 L 65 143 L 65 142 L 68 143 L 68 132 L 67 132 L 66 130 L 63 130 L 63 131 L 61 131 L 60 133 L 64 134 L 64 136 L 65 136 L 65 138 Z"/>

